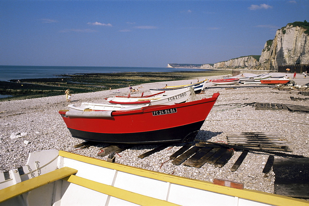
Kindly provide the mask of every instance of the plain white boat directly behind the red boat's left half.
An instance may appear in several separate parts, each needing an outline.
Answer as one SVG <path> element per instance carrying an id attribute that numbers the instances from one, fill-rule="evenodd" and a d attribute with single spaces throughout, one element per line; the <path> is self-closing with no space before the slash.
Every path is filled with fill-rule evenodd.
<path id="1" fill-rule="evenodd" d="M 112 104 L 99 104 L 99 103 L 88 103 L 83 102 L 81 106 L 76 107 L 74 104 L 69 104 L 68 107 L 71 111 L 123 111 L 140 109 L 142 107 L 149 106 L 149 104 L 142 104 L 137 106 L 132 105 L 112 105 Z"/>

